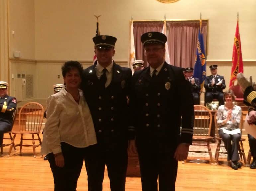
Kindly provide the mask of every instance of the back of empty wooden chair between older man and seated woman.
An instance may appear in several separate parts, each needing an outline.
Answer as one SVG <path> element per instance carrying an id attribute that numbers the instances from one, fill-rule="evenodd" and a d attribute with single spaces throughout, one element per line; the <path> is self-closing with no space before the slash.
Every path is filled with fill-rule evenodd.
<path id="1" fill-rule="evenodd" d="M 194 131 L 196 136 L 210 136 L 212 126 L 212 113 L 203 105 L 194 105 Z"/>

